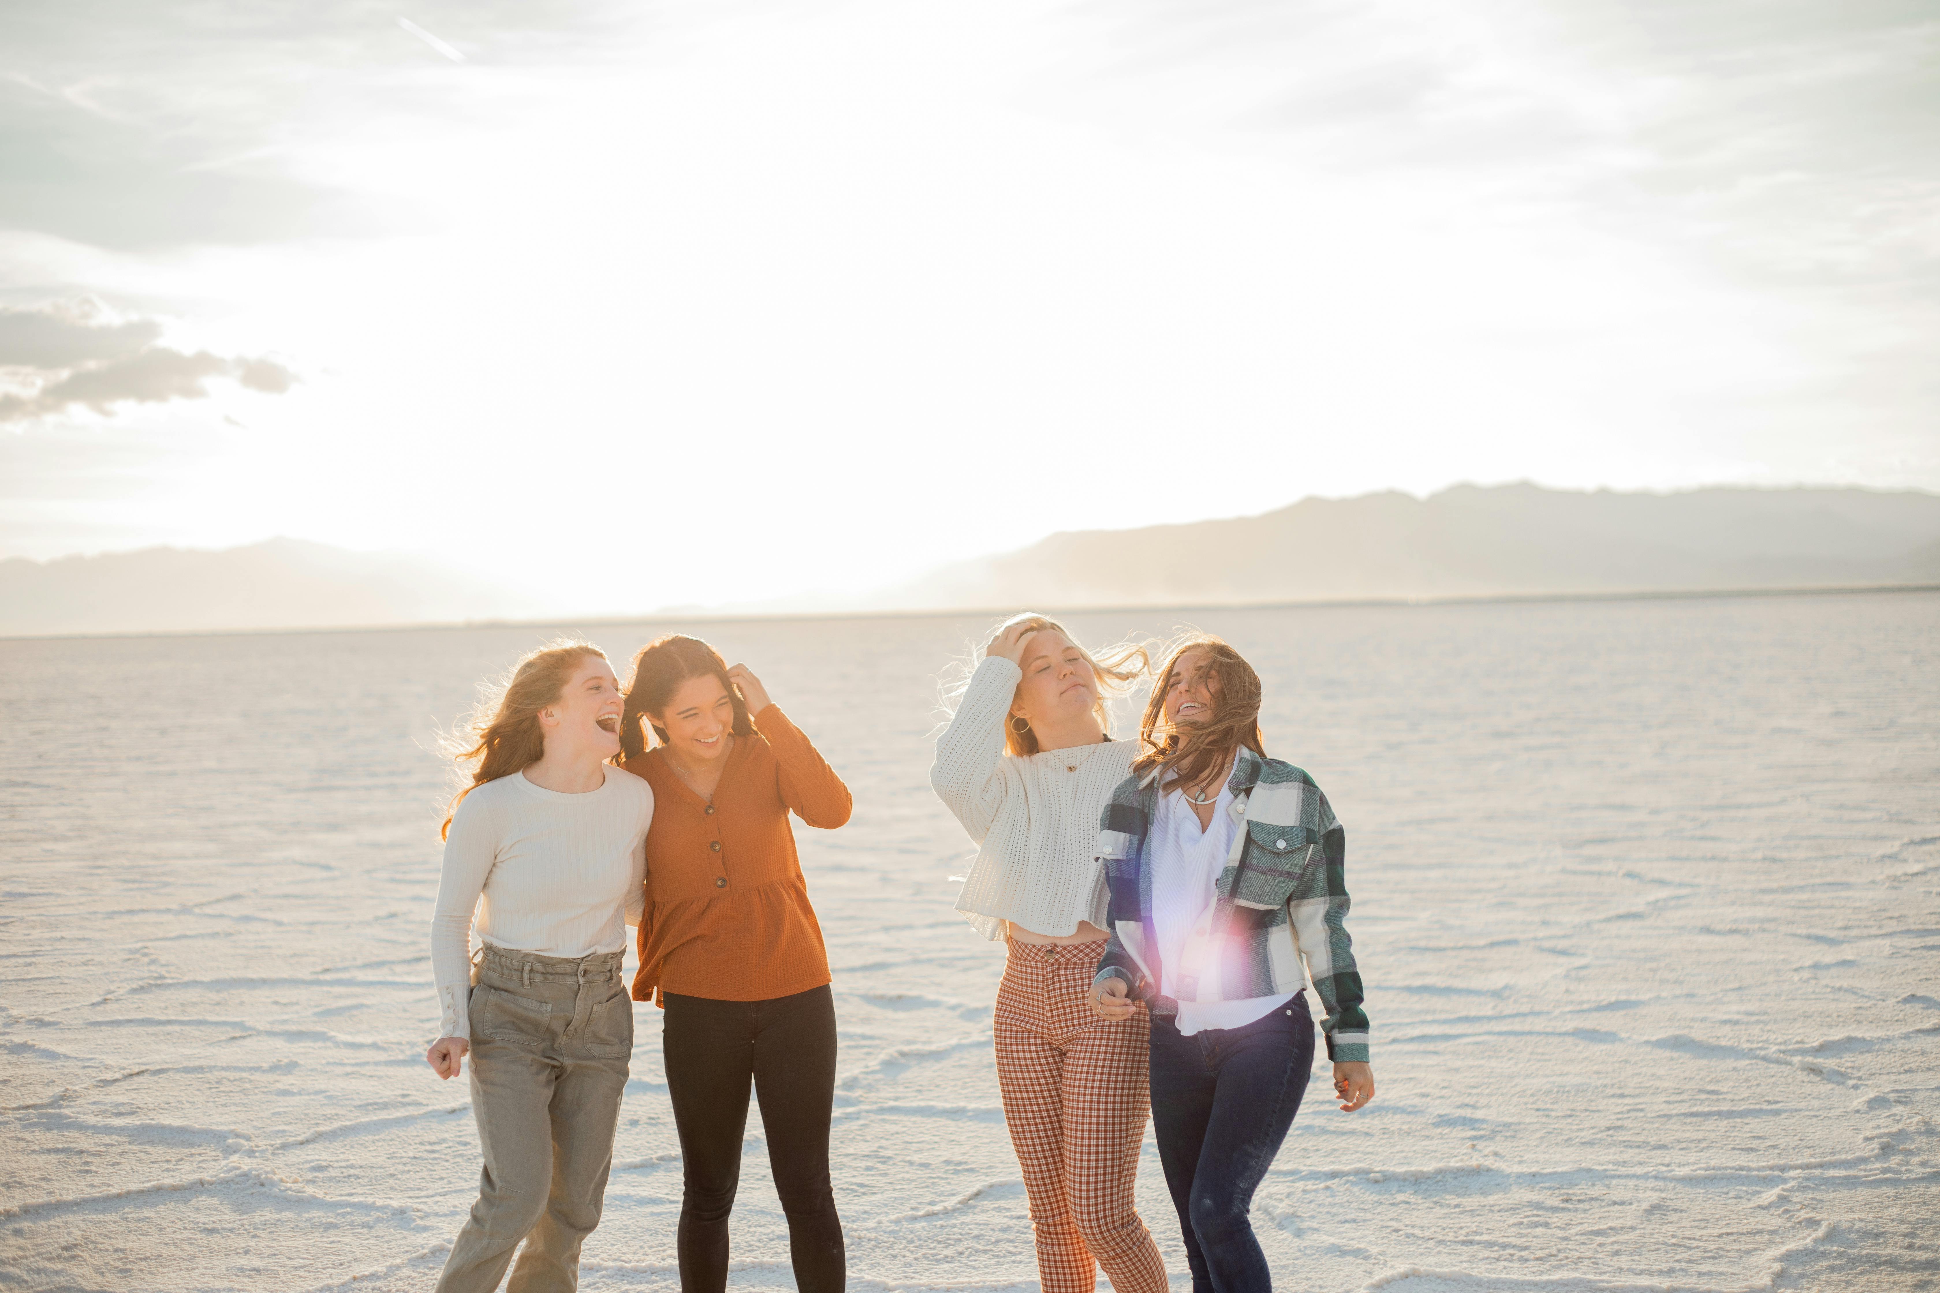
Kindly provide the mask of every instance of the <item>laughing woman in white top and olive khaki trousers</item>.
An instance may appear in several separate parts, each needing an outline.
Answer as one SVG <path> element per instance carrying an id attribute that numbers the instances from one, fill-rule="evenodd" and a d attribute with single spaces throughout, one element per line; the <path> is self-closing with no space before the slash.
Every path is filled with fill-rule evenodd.
<path id="1" fill-rule="evenodd" d="M 520 1241 L 514 1289 L 570 1289 L 599 1223 L 632 1055 L 621 958 L 654 820 L 648 783 L 605 762 L 623 708 L 599 647 L 559 642 L 518 663 L 460 754 L 475 768 L 444 822 L 431 925 L 444 1020 L 425 1058 L 452 1078 L 471 1055 L 485 1171 L 438 1293 L 497 1289 Z"/>

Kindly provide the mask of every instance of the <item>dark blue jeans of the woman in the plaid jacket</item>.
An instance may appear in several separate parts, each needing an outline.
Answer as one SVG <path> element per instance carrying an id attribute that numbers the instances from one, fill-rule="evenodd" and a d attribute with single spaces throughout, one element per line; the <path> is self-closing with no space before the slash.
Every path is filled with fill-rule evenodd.
<path id="1" fill-rule="evenodd" d="M 1180 1037 L 1152 1016 L 1152 1132 L 1185 1233 L 1193 1293 L 1267 1293 L 1247 1212 L 1313 1070 L 1313 1016 L 1292 1000 L 1242 1027 Z"/>

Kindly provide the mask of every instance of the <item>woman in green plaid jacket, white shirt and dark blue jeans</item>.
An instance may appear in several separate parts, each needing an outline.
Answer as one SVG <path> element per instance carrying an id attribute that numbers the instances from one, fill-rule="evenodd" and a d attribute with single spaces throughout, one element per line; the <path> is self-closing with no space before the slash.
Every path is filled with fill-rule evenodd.
<path id="1" fill-rule="evenodd" d="M 1374 1099 L 1344 832 L 1308 773 L 1267 758 L 1259 675 L 1218 638 L 1174 647 L 1139 742 L 1102 820 L 1112 938 L 1090 1002 L 1150 1012 L 1152 1128 L 1193 1293 L 1263 1293 L 1247 1210 L 1313 1068 L 1306 975 L 1341 1109 Z"/>

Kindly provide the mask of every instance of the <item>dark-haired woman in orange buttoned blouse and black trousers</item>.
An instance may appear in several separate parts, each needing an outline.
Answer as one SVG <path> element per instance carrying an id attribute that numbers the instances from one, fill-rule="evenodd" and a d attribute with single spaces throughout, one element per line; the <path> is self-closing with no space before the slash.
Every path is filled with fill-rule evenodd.
<path id="1" fill-rule="evenodd" d="M 652 750 L 640 719 L 660 739 Z M 850 793 L 747 665 L 667 636 L 632 661 L 627 772 L 654 787 L 634 1000 L 658 1000 L 681 1136 L 681 1289 L 728 1287 L 728 1214 L 741 1179 L 749 1084 L 788 1214 L 801 1293 L 846 1283 L 828 1186 L 836 1012 L 828 954 L 788 814 L 834 830 Z"/>

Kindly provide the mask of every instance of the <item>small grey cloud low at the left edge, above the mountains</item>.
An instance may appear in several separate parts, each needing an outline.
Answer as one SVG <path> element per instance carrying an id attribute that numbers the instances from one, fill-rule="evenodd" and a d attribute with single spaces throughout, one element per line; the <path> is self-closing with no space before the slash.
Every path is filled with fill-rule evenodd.
<path id="1" fill-rule="evenodd" d="M 116 322 L 97 300 L 0 306 L 0 372 L 31 392 L 0 394 L 0 423 L 50 417 L 74 405 L 113 417 L 116 403 L 206 399 L 210 378 L 281 395 L 297 376 L 274 359 L 194 355 L 155 345 L 155 320 Z"/>

